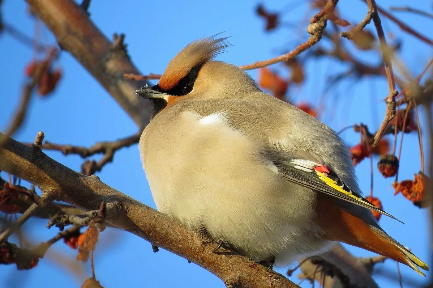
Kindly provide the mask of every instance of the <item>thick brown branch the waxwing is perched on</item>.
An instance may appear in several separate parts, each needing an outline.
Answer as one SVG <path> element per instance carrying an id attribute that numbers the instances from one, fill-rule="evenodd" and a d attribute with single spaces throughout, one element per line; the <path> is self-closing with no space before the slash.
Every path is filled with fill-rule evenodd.
<path id="1" fill-rule="evenodd" d="M 6 139 L 5 139 L 6 138 Z M 297 287 L 284 276 L 237 253 L 212 253 L 216 243 L 199 237 L 165 214 L 107 186 L 97 176 L 85 176 L 61 165 L 44 153 L 0 134 L 0 170 L 33 183 L 42 195 L 84 211 L 97 210 L 101 202 L 117 203 L 107 211 L 107 221 L 182 256 L 209 270 L 233 287 Z M 111 217 L 110 217 L 111 216 Z M 114 217 L 115 216 L 115 217 Z M 150 247 L 149 247 L 150 249 Z"/>

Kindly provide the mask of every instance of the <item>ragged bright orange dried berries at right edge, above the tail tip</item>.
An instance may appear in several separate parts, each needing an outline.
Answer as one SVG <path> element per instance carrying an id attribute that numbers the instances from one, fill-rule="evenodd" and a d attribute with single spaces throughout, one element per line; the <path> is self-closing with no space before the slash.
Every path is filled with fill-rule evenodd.
<path id="1" fill-rule="evenodd" d="M 414 180 L 403 180 L 399 183 L 394 182 L 394 195 L 401 194 L 412 201 L 418 207 L 425 207 L 426 199 L 426 182 L 430 182 L 430 178 L 422 172 L 415 174 Z"/>

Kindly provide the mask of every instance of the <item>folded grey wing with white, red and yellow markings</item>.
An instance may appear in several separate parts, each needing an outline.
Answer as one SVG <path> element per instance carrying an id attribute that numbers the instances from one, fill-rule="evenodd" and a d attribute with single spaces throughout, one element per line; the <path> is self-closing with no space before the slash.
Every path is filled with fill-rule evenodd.
<path id="1" fill-rule="evenodd" d="M 371 209 L 400 221 L 369 202 L 359 193 L 353 191 L 329 166 L 304 159 L 281 161 L 275 165 L 278 168 L 278 173 L 291 182 L 326 193 L 363 208 Z"/>

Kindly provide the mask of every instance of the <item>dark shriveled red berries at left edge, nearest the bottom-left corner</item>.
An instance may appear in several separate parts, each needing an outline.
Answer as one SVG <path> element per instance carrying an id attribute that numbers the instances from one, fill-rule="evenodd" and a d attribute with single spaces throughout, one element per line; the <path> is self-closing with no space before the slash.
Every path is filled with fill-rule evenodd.
<path id="1" fill-rule="evenodd" d="M 16 269 L 28 270 L 36 267 L 38 262 L 39 258 L 33 256 L 29 250 L 7 241 L 0 244 L 0 264 L 16 264 Z"/>

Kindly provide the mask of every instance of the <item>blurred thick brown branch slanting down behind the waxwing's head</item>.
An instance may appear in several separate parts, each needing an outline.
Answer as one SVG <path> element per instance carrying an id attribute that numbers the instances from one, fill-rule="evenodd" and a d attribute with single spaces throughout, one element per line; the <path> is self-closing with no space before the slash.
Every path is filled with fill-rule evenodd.
<path id="1" fill-rule="evenodd" d="M 70 52 L 143 128 L 149 122 L 152 109 L 148 102 L 134 94 L 145 82 L 123 78 L 124 73 L 139 74 L 121 43 L 123 38 L 117 37 L 116 45 L 110 43 L 72 0 L 27 0 L 27 3 L 54 33 L 60 47 Z"/>

